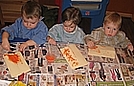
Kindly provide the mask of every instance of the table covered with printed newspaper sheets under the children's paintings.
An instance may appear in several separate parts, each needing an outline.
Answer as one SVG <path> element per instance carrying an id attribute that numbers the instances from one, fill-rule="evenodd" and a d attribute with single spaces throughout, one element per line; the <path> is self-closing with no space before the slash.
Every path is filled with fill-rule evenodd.
<path id="1" fill-rule="evenodd" d="M 19 43 L 11 43 L 10 45 L 11 49 L 16 51 Z M 45 58 L 48 52 L 47 43 L 40 46 L 27 47 L 22 54 L 29 64 L 31 71 L 24 74 L 22 81 L 26 84 L 32 84 L 32 86 L 134 85 L 133 52 L 118 48 L 115 49 L 117 53 L 116 58 L 112 59 L 88 55 L 86 46 L 76 44 L 77 48 L 88 61 L 88 65 L 71 69 L 59 51 L 59 48 L 64 48 L 65 46 L 67 46 L 65 43 L 58 43 L 58 47 L 54 45 L 50 46 L 52 53 L 56 56 L 54 63 L 48 63 Z M 17 77 L 11 77 L 6 67 L 2 57 L 5 52 L 0 46 L 0 79 L 18 79 Z M 38 58 L 40 57 L 43 58 L 42 64 L 38 64 Z"/>

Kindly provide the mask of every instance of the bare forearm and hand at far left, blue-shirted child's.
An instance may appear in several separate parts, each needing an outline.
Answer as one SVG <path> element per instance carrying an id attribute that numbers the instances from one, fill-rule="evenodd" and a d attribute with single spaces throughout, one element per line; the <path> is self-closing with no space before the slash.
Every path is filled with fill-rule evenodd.
<path id="1" fill-rule="evenodd" d="M 8 38 L 9 38 L 9 33 L 4 31 L 2 34 L 2 47 L 5 50 L 10 51 L 10 44 L 9 44 Z"/>

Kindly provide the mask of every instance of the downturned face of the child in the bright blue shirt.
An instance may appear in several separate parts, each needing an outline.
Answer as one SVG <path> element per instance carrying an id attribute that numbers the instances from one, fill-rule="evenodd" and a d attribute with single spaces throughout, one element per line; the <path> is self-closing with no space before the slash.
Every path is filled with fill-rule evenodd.
<path id="1" fill-rule="evenodd" d="M 33 29 L 37 26 L 39 22 L 39 19 L 38 18 L 26 18 L 24 15 L 23 15 L 23 25 L 27 28 L 27 29 Z"/>

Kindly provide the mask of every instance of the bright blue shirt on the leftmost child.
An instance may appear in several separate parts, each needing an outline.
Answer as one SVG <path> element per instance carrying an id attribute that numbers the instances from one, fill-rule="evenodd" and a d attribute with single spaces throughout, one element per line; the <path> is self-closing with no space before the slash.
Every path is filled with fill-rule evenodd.
<path id="1" fill-rule="evenodd" d="M 43 44 L 46 42 L 48 28 L 43 21 L 39 21 L 35 28 L 27 29 L 22 23 L 22 18 L 18 18 L 12 25 L 2 28 L 0 38 L 3 31 L 9 33 L 9 40 L 22 38 L 33 40 L 37 44 Z"/>

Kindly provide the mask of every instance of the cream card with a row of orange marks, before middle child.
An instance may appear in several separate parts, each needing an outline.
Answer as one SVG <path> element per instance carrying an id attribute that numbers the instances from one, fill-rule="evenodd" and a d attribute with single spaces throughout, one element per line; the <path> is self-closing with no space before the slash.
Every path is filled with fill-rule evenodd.
<path id="1" fill-rule="evenodd" d="M 72 69 L 88 64 L 75 44 L 69 44 L 60 50 Z"/>

